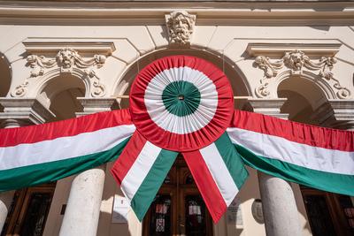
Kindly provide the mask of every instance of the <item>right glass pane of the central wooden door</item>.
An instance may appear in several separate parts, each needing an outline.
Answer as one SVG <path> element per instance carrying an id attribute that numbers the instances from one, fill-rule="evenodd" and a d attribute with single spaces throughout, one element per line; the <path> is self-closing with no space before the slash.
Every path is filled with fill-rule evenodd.
<path id="1" fill-rule="evenodd" d="M 201 195 L 185 196 L 186 235 L 206 235 L 205 204 Z"/>

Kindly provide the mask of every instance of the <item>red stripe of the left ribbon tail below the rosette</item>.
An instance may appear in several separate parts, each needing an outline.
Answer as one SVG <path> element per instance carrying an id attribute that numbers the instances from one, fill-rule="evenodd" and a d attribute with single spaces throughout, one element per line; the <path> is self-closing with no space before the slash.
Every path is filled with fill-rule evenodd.
<path id="1" fill-rule="evenodd" d="M 121 185 L 122 180 L 126 177 L 127 171 L 129 171 L 135 163 L 135 160 L 141 153 L 145 143 L 146 139 L 142 134 L 135 131 L 130 141 L 128 141 L 126 148 L 124 148 L 118 160 L 114 163 L 111 173 L 117 183 L 119 183 L 119 186 Z"/>

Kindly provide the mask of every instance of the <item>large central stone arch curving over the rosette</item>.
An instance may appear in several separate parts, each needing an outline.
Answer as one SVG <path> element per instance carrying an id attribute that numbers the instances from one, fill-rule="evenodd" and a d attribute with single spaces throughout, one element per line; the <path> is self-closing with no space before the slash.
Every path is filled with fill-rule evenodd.
<path id="1" fill-rule="evenodd" d="M 112 86 L 112 95 L 127 95 L 127 91 L 130 88 L 130 85 L 135 80 L 136 74 L 146 65 L 149 65 L 150 62 L 166 56 L 172 55 L 188 55 L 201 57 L 205 60 L 212 62 L 212 64 L 217 65 L 219 69 L 227 75 L 228 80 L 234 90 L 234 95 L 240 96 L 250 96 L 251 88 L 248 80 L 244 74 L 239 70 L 235 63 L 232 62 L 229 58 L 225 57 L 222 54 L 213 52 L 211 50 L 205 49 L 157 49 L 148 54 L 145 54 L 142 57 L 135 59 L 133 63 L 127 66 L 127 69 L 119 75 L 119 78 L 114 82 Z M 127 102 L 123 102 L 124 106 L 127 105 Z"/>

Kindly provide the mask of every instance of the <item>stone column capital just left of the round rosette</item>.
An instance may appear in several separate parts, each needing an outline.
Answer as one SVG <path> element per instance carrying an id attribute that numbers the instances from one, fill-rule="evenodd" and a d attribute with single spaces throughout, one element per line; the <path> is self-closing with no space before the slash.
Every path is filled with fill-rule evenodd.
<path id="1" fill-rule="evenodd" d="M 83 111 L 76 112 L 76 117 L 112 110 L 112 105 L 117 103 L 116 99 L 112 97 L 78 97 L 77 99 L 81 103 Z"/>

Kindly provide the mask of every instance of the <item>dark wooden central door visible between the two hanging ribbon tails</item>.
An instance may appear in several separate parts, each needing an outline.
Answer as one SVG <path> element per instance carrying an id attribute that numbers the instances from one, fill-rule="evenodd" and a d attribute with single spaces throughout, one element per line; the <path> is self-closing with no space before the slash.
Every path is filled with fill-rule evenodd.
<path id="1" fill-rule="evenodd" d="M 212 217 L 181 156 L 151 203 L 142 228 L 144 236 L 212 236 Z"/>

